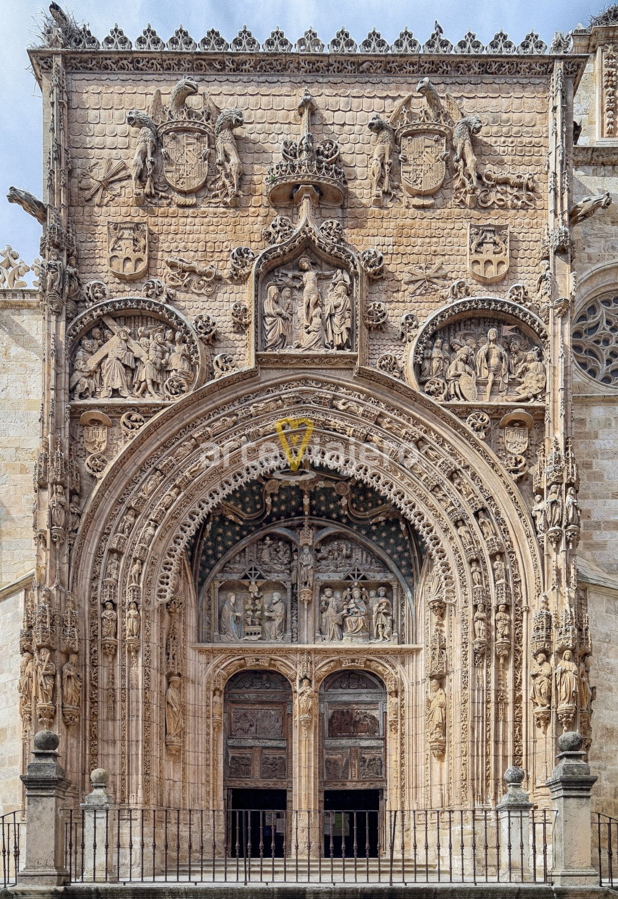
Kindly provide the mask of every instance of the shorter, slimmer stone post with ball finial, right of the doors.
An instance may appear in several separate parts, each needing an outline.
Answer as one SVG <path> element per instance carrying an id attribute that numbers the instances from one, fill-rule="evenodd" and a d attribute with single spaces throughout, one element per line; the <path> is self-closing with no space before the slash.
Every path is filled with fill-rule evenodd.
<path id="1" fill-rule="evenodd" d="M 532 803 L 522 789 L 525 772 L 511 765 L 504 772 L 507 793 L 498 807 L 500 829 L 499 873 L 501 881 L 522 883 L 530 875 L 530 826 Z"/>

